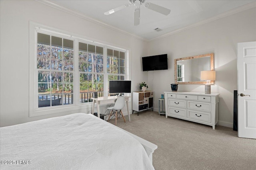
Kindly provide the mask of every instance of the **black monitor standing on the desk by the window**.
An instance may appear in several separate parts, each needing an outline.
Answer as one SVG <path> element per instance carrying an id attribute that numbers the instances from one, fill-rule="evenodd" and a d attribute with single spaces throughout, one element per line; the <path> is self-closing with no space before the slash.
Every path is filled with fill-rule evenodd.
<path id="1" fill-rule="evenodd" d="M 130 93 L 131 84 L 130 80 L 109 80 L 109 93 Z"/>

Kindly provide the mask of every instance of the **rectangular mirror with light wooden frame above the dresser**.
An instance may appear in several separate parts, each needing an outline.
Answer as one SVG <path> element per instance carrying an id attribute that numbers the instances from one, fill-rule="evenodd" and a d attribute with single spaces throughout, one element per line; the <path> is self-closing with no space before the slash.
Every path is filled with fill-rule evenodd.
<path id="1" fill-rule="evenodd" d="M 177 84 L 205 84 L 200 80 L 200 73 L 204 70 L 214 70 L 214 53 L 196 55 L 174 59 L 175 83 Z M 214 84 L 214 81 L 210 81 Z"/>

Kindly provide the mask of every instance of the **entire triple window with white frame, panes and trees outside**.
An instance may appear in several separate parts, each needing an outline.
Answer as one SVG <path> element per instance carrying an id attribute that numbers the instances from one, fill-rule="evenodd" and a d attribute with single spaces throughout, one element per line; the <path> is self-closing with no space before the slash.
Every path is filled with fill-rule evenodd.
<path id="1" fill-rule="evenodd" d="M 91 107 L 109 80 L 129 80 L 128 50 L 30 23 L 30 117 Z"/>

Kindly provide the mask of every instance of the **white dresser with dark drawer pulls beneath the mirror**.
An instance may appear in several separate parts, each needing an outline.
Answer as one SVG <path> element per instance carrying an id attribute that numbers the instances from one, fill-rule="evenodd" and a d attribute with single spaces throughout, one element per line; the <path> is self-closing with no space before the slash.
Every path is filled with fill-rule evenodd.
<path id="1" fill-rule="evenodd" d="M 218 122 L 219 94 L 164 92 L 166 118 L 176 117 L 212 126 Z"/>

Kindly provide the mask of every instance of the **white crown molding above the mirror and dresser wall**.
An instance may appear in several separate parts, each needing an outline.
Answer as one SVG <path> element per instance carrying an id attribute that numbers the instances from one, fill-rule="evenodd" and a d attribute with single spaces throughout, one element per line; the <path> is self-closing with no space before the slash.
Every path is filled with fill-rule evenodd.
<path id="1" fill-rule="evenodd" d="M 193 28 L 193 27 L 197 27 L 197 26 L 199 26 L 199 25 L 203 25 L 203 24 L 205 24 L 205 23 L 208 23 L 208 22 L 211 22 L 211 21 L 214 21 L 214 20 L 218 20 L 218 19 L 220 19 L 220 18 L 224 18 L 224 17 L 226 17 L 226 16 L 230 16 L 230 15 L 236 14 L 236 13 L 238 13 L 238 12 L 242 12 L 242 11 L 248 10 L 248 9 L 250 9 L 250 8 L 255 8 L 255 7 L 256 7 L 256 1 L 255 1 L 255 2 L 250 2 L 250 3 L 246 4 L 246 5 L 240 6 L 240 7 L 238 7 L 238 8 L 234 8 L 234 9 L 232 9 L 232 10 L 229 10 L 229 11 L 227 11 L 227 12 L 224 12 L 224 13 L 222 13 L 222 14 L 219 14 L 219 15 L 214 16 L 214 17 L 212 17 L 212 18 L 209 18 L 209 19 L 207 19 L 207 20 L 200 21 L 200 22 L 198 22 L 198 23 L 189 25 L 189 26 L 187 26 L 187 27 L 183 27 L 183 28 L 181 28 L 181 29 L 176 29 L 175 31 L 166 33 L 166 34 L 164 34 L 164 35 L 160 35 L 160 36 L 158 36 L 158 37 L 156 37 L 156 38 L 153 38 L 153 39 L 148 40 L 148 42 L 151 42 L 151 41 L 154 41 L 154 40 L 157 40 L 157 39 L 161 39 L 161 38 L 167 37 L 167 36 L 169 36 L 169 35 L 172 35 L 172 34 L 175 34 L 175 33 L 181 32 L 181 31 L 185 31 L 185 30 L 187 30 L 187 29 L 190 29 L 190 28 Z"/>

